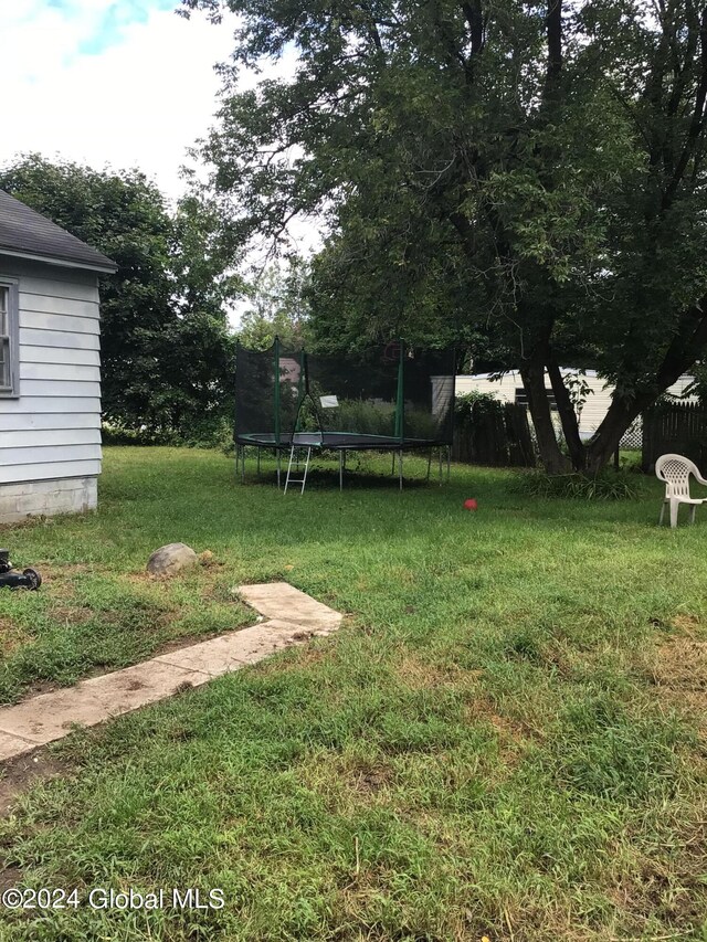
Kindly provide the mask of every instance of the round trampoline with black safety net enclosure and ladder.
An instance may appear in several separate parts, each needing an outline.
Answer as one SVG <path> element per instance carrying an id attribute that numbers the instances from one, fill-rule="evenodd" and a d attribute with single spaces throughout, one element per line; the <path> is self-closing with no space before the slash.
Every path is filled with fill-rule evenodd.
<path id="1" fill-rule="evenodd" d="M 289 452 L 289 480 L 306 451 L 305 478 L 296 481 L 304 490 L 312 452 L 336 452 L 342 488 L 348 452 L 391 452 L 402 489 L 403 452 L 429 452 L 429 479 L 437 448 L 440 479 L 443 451 L 449 476 L 454 377 L 453 349 L 418 351 L 401 340 L 346 358 L 286 350 L 277 338 L 262 351 L 239 345 L 236 473 L 245 479 L 246 447 L 257 449 L 258 473 L 261 451 L 272 451 L 279 487 L 283 453 Z"/>

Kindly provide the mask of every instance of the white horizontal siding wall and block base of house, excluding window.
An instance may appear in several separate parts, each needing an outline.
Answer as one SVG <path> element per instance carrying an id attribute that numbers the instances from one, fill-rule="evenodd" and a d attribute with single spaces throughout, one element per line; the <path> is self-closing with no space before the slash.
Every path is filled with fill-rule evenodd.
<path id="1" fill-rule="evenodd" d="M 20 395 L 0 398 L 0 522 L 96 506 L 97 276 L 0 255 L 19 278 Z"/>

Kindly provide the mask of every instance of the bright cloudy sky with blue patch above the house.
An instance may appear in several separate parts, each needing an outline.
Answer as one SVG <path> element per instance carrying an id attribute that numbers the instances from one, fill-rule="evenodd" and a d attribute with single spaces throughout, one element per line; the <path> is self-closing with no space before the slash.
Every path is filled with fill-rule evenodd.
<path id="1" fill-rule="evenodd" d="M 170 199 L 218 106 L 213 66 L 234 19 L 184 20 L 178 0 L 0 0 L 0 166 L 38 151 L 137 167 Z"/>

